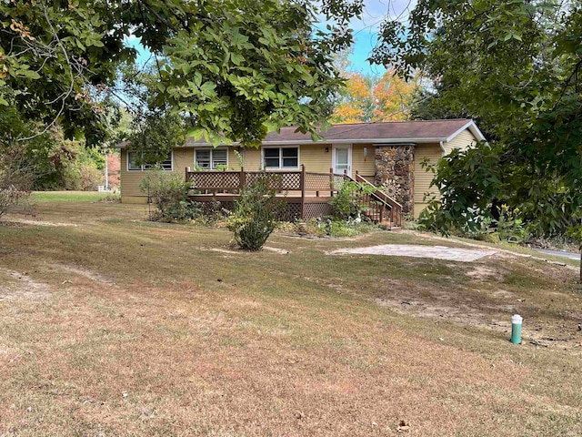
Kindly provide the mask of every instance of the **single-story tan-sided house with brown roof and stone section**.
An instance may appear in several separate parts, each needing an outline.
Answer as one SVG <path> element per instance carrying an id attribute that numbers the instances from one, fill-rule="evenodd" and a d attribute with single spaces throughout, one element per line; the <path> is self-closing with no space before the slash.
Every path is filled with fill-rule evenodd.
<path id="1" fill-rule="evenodd" d="M 204 139 L 189 138 L 160 163 L 167 171 L 186 174 L 193 170 L 291 171 L 305 166 L 308 172 L 356 174 L 382 188 L 402 205 L 404 213 L 418 216 L 426 208 L 425 194 L 433 178 L 421 163 L 436 163 L 454 148 L 466 148 L 484 140 L 477 125 L 469 119 L 403 121 L 335 125 L 322 132 L 324 139 L 313 141 L 296 127 L 283 127 L 270 133 L 261 147 L 212 147 Z M 138 151 L 121 148 L 121 200 L 146 203 L 139 185 L 147 166 L 138 165 Z"/>

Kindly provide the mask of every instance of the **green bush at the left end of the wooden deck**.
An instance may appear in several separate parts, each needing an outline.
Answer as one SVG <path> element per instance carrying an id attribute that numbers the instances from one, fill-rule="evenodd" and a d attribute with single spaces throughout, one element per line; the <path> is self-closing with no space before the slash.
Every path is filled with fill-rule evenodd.
<path id="1" fill-rule="evenodd" d="M 199 204 L 188 198 L 190 182 L 186 182 L 181 174 L 156 169 L 148 173 L 139 188 L 156 205 L 153 220 L 184 221 L 200 214 Z"/>

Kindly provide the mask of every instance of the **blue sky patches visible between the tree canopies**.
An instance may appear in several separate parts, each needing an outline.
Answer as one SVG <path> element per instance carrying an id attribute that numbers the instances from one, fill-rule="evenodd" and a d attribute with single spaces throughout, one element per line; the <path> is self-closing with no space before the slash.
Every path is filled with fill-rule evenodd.
<path id="1" fill-rule="evenodd" d="M 377 31 L 387 15 L 391 18 L 398 17 L 406 20 L 408 11 L 416 5 L 416 0 L 364 0 L 364 13 L 361 20 L 352 20 L 350 27 L 354 29 L 356 44 L 354 52 L 350 56 L 352 62 L 349 67 L 369 75 L 382 75 L 386 68 L 383 66 L 370 66 L 366 58 L 376 46 Z M 149 52 L 139 44 L 139 40 L 130 37 L 127 44 L 134 46 L 139 52 L 138 62 L 144 63 L 149 57 Z"/>

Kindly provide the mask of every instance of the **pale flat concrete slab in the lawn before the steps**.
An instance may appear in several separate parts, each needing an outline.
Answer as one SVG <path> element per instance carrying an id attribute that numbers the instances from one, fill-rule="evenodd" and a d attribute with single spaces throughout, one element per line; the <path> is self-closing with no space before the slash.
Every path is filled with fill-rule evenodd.
<path id="1" fill-rule="evenodd" d="M 337 249 L 328 255 L 387 255 L 391 257 L 412 257 L 446 259 L 449 261 L 471 262 L 495 254 L 495 250 L 459 249 L 445 246 L 420 246 L 412 244 L 383 244 L 356 249 Z"/>

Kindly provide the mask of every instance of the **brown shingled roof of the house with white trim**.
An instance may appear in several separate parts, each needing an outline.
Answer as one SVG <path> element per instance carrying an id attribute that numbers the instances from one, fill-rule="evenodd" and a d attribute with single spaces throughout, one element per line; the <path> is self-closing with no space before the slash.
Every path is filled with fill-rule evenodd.
<path id="1" fill-rule="evenodd" d="M 483 134 L 472 120 L 457 118 L 429 121 L 388 121 L 383 123 L 354 123 L 334 125 L 326 132 L 320 132 L 325 143 L 434 143 L 447 142 L 460 132 L 469 129 L 478 140 Z M 269 133 L 263 144 L 309 144 L 313 143 L 309 134 L 296 132 L 296 127 L 282 127 L 280 133 Z M 237 143 L 235 143 L 237 144 Z M 186 140 L 186 147 L 208 146 L 204 139 Z M 117 147 L 125 147 L 119 144 Z"/>

